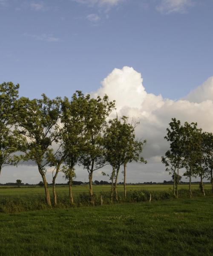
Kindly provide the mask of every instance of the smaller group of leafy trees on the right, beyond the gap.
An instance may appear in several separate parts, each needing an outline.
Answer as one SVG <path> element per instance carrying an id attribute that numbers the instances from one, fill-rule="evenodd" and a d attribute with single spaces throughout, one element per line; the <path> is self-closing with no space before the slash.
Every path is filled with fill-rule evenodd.
<path id="1" fill-rule="evenodd" d="M 203 132 L 197 123 L 185 122 L 181 125 L 176 118 L 167 128 L 164 137 L 170 142 L 162 163 L 166 170 L 173 175 L 173 193 L 178 197 L 179 171 L 184 169 L 184 176 L 189 177 L 189 196 L 192 197 L 191 178 L 200 177 L 200 189 L 205 195 L 203 178 L 211 182 L 213 192 L 213 134 Z"/>

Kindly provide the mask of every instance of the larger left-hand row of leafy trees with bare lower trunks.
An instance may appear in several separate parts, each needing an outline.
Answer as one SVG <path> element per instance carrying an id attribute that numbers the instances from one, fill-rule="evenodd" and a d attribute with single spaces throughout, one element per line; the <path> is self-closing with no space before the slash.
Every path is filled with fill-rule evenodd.
<path id="1" fill-rule="evenodd" d="M 146 141 L 135 139 L 136 122 L 123 116 L 109 120 L 115 101 L 108 96 L 91 98 L 76 91 L 72 99 L 41 99 L 18 97 L 19 85 L 0 84 L 0 172 L 6 164 L 17 165 L 20 160 L 37 164 L 46 202 L 52 205 L 46 181 L 46 170 L 52 167 L 54 205 L 57 204 L 56 179 L 63 172 L 69 183 L 71 204 L 75 165 L 81 164 L 89 176 L 89 194 L 94 204 L 93 173 L 112 166 L 111 199 L 118 200 L 117 182 L 124 167 L 124 196 L 126 196 L 127 163 L 143 162 L 140 156 Z M 15 154 L 21 152 L 20 154 Z"/>

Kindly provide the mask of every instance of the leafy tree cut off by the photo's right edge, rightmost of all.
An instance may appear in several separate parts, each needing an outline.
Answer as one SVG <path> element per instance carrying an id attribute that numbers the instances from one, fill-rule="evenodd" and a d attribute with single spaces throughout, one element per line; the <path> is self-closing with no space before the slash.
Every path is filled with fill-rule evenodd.
<path id="1" fill-rule="evenodd" d="M 210 180 L 213 192 L 213 134 L 210 132 L 202 133 L 202 151 L 205 176 Z"/>

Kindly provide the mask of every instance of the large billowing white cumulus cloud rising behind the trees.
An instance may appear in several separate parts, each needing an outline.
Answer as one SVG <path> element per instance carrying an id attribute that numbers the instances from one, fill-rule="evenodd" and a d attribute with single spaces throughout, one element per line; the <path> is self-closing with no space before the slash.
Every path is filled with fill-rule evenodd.
<path id="1" fill-rule="evenodd" d="M 213 132 L 213 78 L 191 92 L 186 99 L 173 101 L 147 93 L 141 74 L 132 67 L 123 67 L 114 69 L 93 93 L 94 96 L 104 94 L 110 100 L 115 99 L 116 111 L 120 116 L 134 116 L 140 121 L 136 136 L 147 139 L 144 157 L 152 162 L 155 159 L 155 164 L 156 159 L 160 164 L 160 156 L 168 149 L 164 136 L 172 117 L 180 119 L 182 123 L 198 122 L 203 130 Z"/>

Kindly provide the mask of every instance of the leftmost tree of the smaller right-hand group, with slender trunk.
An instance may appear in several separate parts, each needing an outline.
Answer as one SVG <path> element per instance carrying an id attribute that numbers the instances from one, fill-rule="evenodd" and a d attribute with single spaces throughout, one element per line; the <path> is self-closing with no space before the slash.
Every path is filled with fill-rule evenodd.
<path id="1" fill-rule="evenodd" d="M 179 177 L 179 169 L 183 167 L 183 127 L 181 126 L 180 120 L 176 120 L 176 118 L 172 118 L 172 121 L 169 123 L 170 128 L 167 128 L 167 135 L 164 137 L 167 141 L 170 142 L 170 152 L 166 153 L 167 156 L 162 158 L 162 162 L 168 167 L 164 160 L 169 160 L 170 164 L 173 165 L 173 169 L 170 171 L 174 171 L 174 179 L 173 179 L 173 193 L 178 198 L 178 177 Z M 168 163 L 168 162 L 167 162 Z M 167 169 L 168 170 L 168 169 Z M 175 175 L 177 170 L 177 175 Z M 177 182 L 176 182 L 177 177 Z M 175 191 L 176 186 L 176 191 Z"/>

